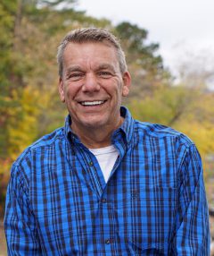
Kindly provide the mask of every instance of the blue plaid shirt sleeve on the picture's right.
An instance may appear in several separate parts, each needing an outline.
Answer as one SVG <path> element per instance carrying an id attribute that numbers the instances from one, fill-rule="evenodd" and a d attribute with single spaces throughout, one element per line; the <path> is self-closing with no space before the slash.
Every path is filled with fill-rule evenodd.
<path id="1" fill-rule="evenodd" d="M 175 255 L 210 256 L 209 211 L 202 176 L 202 160 L 192 145 L 181 167 L 177 202 Z"/>

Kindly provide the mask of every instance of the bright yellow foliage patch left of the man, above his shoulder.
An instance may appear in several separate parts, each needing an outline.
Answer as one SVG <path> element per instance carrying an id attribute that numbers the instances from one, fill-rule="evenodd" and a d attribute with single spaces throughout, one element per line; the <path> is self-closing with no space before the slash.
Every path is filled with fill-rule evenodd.
<path id="1" fill-rule="evenodd" d="M 10 147 L 7 154 L 14 159 L 20 152 L 37 138 L 38 91 L 30 87 L 12 91 L 13 102 L 17 105 L 8 109 L 10 120 L 7 123 L 7 142 Z"/>

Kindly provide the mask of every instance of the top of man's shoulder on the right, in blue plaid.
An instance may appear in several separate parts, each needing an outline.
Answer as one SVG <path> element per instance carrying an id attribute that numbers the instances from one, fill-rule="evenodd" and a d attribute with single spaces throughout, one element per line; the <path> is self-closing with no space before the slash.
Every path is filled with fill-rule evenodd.
<path id="1" fill-rule="evenodd" d="M 192 145 L 193 141 L 183 132 L 179 132 L 163 124 L 153 124 L 135 120 L 135 131 L 142 136 L 155 139 L 175 139 L 186 145 Z"/>

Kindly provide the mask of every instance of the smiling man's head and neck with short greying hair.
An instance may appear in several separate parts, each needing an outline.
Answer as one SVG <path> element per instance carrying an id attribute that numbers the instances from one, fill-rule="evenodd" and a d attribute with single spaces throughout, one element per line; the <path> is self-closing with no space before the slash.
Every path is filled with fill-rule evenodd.
<path id="1" fill-rule="evenodd" d="M 89 136 L 95 141 L 100 134 L 96 145 L 108 145 L 103 138 L 121 124 L 121 98 L 128 96 L 130 85 L 117 39 L 106 30 L 74 30 L 62 40 L 58 62 L 59 92 L 73 132 L 81 141 Z"/>

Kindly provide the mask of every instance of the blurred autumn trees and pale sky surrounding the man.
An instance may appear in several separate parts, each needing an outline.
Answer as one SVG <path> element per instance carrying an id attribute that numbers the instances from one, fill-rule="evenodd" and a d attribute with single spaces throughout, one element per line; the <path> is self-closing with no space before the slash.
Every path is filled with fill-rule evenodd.
<path id="1" fill-rule="evenodd" d="M 185 132 L 198 147 L 214 239 L 214 3 L 212 0 L 2 0 L 0 3 L 0 256 L 12 161 L 62 126 L 57 47 L 81 27 L 121 40 L 132 75 L 124 101 L 136 119 Z M 212 254 L 214 255 L 214 254 Z"/>

